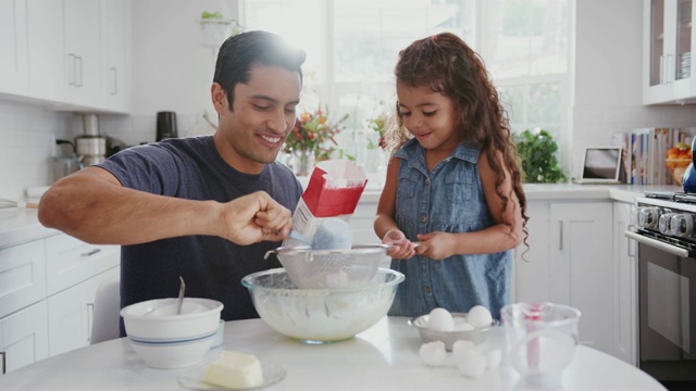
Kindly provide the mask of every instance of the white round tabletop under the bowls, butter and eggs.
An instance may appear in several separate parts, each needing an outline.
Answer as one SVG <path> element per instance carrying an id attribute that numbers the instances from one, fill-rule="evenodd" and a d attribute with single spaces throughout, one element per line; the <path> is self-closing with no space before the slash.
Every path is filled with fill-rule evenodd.
<path id="1" fill-rule="evenodd" d="M 308 345 L 286 338 L 261 319 L 227 321 L 222 350 L 284 365 L 285 378 L 269 390 L 522 390 L 509 366 L 464 377 L 451 353 L 442 367 L 420 363 L 422 341 L 405 317 L 384 317 L 356 338 Z M 173 390 L 184 369 L 151 369 L 126 338 L 53 356 L 0 377 L 0 390 Z M 654 378 L 618 358 L 580 345 L 563 375 L 563 390 L 664 390 Z"/>

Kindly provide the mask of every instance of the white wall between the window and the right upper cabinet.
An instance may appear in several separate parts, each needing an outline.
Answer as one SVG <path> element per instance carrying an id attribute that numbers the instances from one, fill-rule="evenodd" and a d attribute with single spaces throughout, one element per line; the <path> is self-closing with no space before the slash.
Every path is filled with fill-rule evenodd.
<path id="1" fill-rule="evenodd" d="M 696 124 L 694 105 L 642 103 L 642 0 L 575 0 L 575 12 L 572 133 L 562 151 L 572 174 L 580 174 L 585 147 L 608 144 L 614 133 Z"/>

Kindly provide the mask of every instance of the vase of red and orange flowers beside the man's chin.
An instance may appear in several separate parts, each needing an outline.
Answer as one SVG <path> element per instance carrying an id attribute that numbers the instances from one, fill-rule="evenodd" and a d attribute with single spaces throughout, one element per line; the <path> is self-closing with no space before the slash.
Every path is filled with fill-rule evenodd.
<path id="1" fill-rule="evenodd" d="M 284 148 L 284 151 L 293 157 L 293 169 L 296 175 L 307 176 L 316 160 L 328 159 L 338 146 L 335 137 L 343 129 L 346 118 L 348 114 L 338 121 L 332 121 L 328 109 L 322 110 L 321 106 L 314 112 L 298 115 Z"/>

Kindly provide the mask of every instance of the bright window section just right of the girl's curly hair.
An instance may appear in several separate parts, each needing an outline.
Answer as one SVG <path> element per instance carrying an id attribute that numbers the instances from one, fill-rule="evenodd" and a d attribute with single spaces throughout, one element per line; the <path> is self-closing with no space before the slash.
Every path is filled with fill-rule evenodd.
<path id="1" fill-rule="evenodd" d="M 478 51 L 513 131 L 540 127 L 558 141 L 570 106 L 570 1 L 482 1 Z"/>

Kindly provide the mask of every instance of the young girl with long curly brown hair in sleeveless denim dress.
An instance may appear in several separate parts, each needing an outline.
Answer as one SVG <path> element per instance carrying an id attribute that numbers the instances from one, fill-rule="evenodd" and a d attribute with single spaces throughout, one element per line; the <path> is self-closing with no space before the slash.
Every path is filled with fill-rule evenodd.
<path id="1" fill-rule="evenodd" d="M 483 61 L 457 36 L 417 40 L 395 68 L 396 151 L 374 222 L 406 275 L 389 315 L 508 303 L 512 249 L 527 235 L 522 172 Z M 418 245 L 415 244 L 418 243 Z"/>

